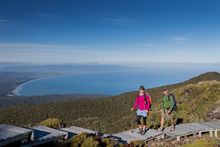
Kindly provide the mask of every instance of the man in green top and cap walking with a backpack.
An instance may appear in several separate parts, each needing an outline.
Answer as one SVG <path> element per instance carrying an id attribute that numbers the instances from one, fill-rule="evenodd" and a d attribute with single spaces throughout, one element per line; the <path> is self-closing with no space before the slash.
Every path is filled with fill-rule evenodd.
<path id="1" fill-rule="evenodd" d="M 163 89 L 163 103 L 161 109 L 161 121 L 159 131 L 163 131 L 164 121 L 171 121 L 171 129 L 170 131 L 175 130 L 174 119 L 176 115 L 176 99 L 173 94 L 171 94 L 168 88 Z"/>

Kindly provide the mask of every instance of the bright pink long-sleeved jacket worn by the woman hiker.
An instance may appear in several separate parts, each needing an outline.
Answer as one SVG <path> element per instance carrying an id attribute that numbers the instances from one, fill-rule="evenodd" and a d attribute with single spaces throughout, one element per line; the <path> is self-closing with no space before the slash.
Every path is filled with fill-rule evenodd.
<path id="1" fill-rule="evenodd" d="M 149 109 L 150 109 L 150 100 L 149 100 L 148 95 L 146 95 L 146 101 L 147 102 L 145 102 L 144 95 L 142 95 L 142 96 L 138 95 L 136 97 L 136 101 L 134 103 L 133 108 L 136 109 L 138 107 L 139 110 L 149 111 Z"/>

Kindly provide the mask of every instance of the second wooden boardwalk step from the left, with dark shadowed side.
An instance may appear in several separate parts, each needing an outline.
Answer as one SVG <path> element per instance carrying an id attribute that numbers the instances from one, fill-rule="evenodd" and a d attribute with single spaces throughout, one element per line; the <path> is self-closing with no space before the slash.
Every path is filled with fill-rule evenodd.
<path id="1" fill-rule="evenodd" d="M 23 144 L 22 146 L 38 146 L 59 139 L 65 139 L 67 137 L 66 132 L 45 126 L 35 126 L 30 129 L 33 130 L 32 141 Z"/>

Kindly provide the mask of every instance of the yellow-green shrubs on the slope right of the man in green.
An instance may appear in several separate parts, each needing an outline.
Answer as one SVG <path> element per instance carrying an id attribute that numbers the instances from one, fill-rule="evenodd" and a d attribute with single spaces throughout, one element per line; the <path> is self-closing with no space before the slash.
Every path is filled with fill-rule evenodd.
<path id="1" fill-rule="evenodd" d="M 220 100 L 219 88 L 220 82 L 204 81 L 173 90 L 181 103 L 178 105 L 178 117 L 184 122 L 207 120 L 207 113 Z"/>

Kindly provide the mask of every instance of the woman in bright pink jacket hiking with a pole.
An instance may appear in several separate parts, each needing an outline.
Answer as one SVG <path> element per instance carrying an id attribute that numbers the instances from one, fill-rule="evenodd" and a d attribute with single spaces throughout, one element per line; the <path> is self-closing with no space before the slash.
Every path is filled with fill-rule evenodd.
<path id="1" fill-rule="evenodd" d="M 144 86 L 139 87 L 139 93 L 136 97 L 134 106 L 131 108 L 134 111 L 137 108 L 136 122 L 139 128 L 139 134 L 144 135 L 146 133 L 147 114 L 150 109 L 150 96 L 145 92 Z M 143 125 L 141 124 L 141 118 L 143 118 Z"/>

